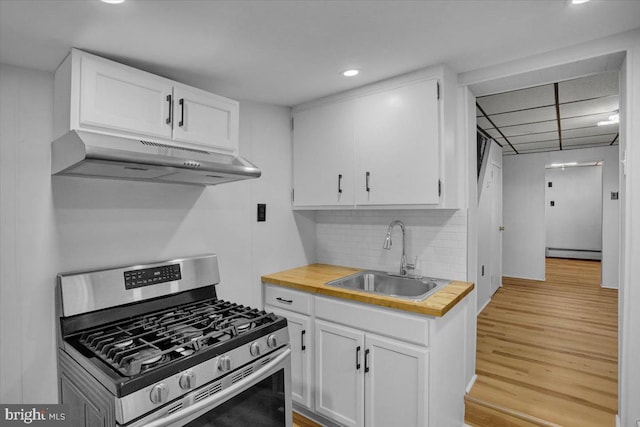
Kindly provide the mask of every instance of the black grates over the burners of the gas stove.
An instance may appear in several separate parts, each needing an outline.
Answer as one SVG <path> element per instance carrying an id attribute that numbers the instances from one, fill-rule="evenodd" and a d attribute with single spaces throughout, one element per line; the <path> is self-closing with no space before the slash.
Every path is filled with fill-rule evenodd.
<path id="1" fill-rule="evenodd" d="M 78 341 L 121 375 L 131 377 L 276 320 L 273 314 L 214 298 L 83 331 Z"/>

